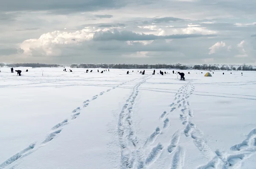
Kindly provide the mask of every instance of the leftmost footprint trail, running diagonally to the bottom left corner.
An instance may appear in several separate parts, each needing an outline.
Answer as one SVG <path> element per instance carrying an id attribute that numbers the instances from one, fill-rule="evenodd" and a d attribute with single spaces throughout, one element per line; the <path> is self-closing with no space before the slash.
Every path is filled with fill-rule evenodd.
<path id="1" fill-rule="evenodd" d="M 136 79 L 129 80 L 127 82 L 123 82 L 123 83 L 121 83 L 119 85 L 116 85 L 115 87 L 112 87 L 111 89 L 108 89 L 106 91 L 100 92 L 98 95 L 93 96 L 91 100 L 88 99 L 88 100 L 84 101 L 83 105 L 81 107 L 76 107 L 76 109 L 74 109 L 71 112 L 71 116 L 69 118 L 66 118 L 64 121 L 62 121 L 62 122 L 56 124 L 55 126 L 53 126 L 51 128 L 49 134 L 47 134 L 45 136 L 44 141 L 42 141 L 40 144 L 37 144 L 37 142 L 34 142 L 34 143 L 30 144 L 26 149 L 21 150 L 17 154 L 13 155 L 9 159 L 7 159 L 3 163 L 1 163 L 0 164 L 0 169 L 3 169 L 5 167 L 9 166 L 11 163 L 17 161 L 18 159 L 21 159 L 21 158 L 31 154 L 32 152 L 36 151 L 38 148 L 46 145 L 47 143 L 52 141 L 54 138 L 56 138 L 61 133 L 61 131 L 63 130 L 63 127 L 65 125 L 71 123 L 71 121 L 75 120 L 80 115 L 80 111 L 83 108 L 85 108 L 85 107 L 87 107 L 89 105 L 90 101 L 93 101 L 93 100 L 97 99 L 99 96 L 102 96 L 105 92 L 109 92 L 109 91 L 115 89 L 116 87 L 122 86 L 122 85 L 124 85 L 124 84 L 126 84 L 128 82 L 132 82 L 132 81 L 137 80 L 137 79 L 145 80 L 145 78 L 136 78 Z M 135 142 L 135 140 L 134 140 L 134 142 Z"/>

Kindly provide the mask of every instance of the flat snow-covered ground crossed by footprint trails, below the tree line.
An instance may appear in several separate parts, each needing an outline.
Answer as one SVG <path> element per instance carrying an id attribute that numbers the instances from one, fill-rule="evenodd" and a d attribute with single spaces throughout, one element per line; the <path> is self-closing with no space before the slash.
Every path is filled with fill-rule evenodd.
<path id="1" fill-rule="evenodd" d="M 0 73 L 0 169 L 256 166 L 256 72 L 14 70 Z"/>

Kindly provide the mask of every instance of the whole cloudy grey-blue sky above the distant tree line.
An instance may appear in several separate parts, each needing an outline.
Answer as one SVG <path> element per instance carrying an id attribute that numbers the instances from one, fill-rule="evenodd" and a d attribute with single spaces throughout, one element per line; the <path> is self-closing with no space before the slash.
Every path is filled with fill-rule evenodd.
<path id="1" fill-rule="evenodd" d="M 0 62 L 256 65 L 256 1 L 1 0 Z"/>

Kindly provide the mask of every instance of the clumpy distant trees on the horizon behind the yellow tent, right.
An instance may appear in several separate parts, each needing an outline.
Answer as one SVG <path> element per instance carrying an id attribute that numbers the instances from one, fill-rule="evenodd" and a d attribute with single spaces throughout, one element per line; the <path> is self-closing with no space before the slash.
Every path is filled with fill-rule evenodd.
<path id="1" fill-rule="evenodd" d="M 231 66 L 224 66 L 222 65 L 221 67 L 218 67 L 216 65 L 207 65 L 207 64 L 204 64 L 204 65 L 195 65 L 193 67 L 193 69 L 196 69 L 196 70 L 243 70 L 243 71 L 247 71 L 247 70 L 250 70 L 250 71 L 256 71 L 256 68 L 253 68 L 253 66 L 247 66 L 247 65 L 242 65 L 242 66 L 239 66 L 238 68 L 235 68 L 233 65 Z"/>

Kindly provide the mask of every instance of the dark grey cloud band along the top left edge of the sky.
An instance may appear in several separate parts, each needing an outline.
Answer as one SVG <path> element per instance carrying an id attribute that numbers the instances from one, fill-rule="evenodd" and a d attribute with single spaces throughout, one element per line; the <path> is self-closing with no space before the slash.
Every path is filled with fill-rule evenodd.
<path id="1" fill-rule="evenodd" d="M 70 14 L 78 11 L 94 11 L 121 8 L 125 1 L 116 0 L 1 0 L 0 11 L 50 11 Z"/>

